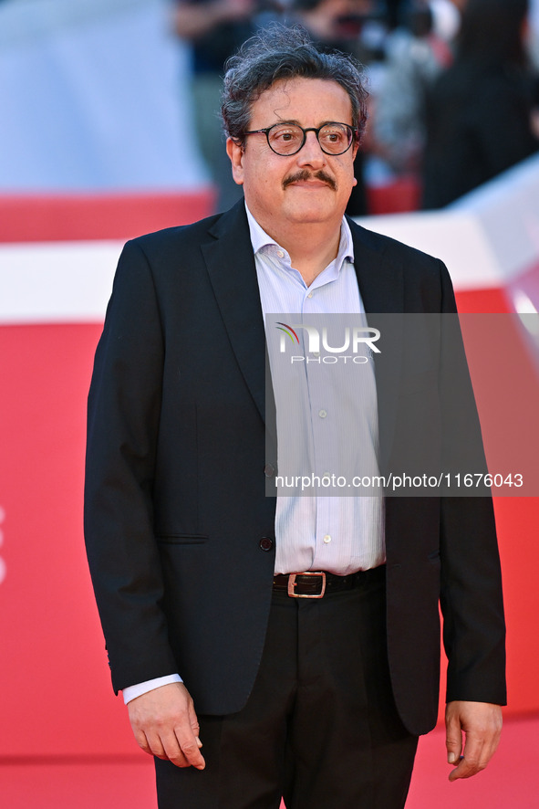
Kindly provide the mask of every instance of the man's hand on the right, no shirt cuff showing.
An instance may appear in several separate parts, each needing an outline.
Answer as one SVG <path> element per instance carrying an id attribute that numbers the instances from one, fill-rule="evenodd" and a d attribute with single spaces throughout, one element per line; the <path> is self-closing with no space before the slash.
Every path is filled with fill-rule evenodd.
<path id="1" fill-rule="evenodd" d="M 490 702 L 449 702 L 445 709 L 447 760 L 458 764 L 450 781 L 470 778 L 492 759 L 502 732 L 502 709 Z M 462 730 L 466 746 L 462 756 Z M 460 761 L 459 761 L 460 759 Z"/>

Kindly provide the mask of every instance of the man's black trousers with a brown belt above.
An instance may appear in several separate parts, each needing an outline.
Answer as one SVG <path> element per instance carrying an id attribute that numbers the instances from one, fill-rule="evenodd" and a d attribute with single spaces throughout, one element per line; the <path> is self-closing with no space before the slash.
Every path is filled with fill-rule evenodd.
<path id="1" fill-rule="evenodd" d="M 156 759 L 160 809 L 402 809 L 418 740 L 389 683 L 384 569 L 321 599 L 274 594 L 245 708 L 199 721 L 206 769 Z"/>

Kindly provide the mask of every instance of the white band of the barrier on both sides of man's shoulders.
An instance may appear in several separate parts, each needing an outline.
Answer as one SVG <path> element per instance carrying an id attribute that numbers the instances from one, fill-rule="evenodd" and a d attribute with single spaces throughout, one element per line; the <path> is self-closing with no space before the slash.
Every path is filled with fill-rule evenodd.
<path id="1" fill-rule="evenodd" d="M 503 174 L 446 210 L 370 216 L 371 230 L 447 264 L 457 292 L 511 285 L 515 310 L 539 309 L 539 157 Z M 119 242 L 0 245 L 0 323 L 99 322 Z M 520 296 L 520 297 L 519 297 Z"/>

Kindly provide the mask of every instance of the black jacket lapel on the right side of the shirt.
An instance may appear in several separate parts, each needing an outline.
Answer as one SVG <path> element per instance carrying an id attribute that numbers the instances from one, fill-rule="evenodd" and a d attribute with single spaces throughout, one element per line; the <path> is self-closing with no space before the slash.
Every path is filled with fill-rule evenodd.
<path id="1" fill-rule="evenodd" d="M 402 265 L 386 255 L 386 243 L 350 221 L 358 287 L 368 325 L 380 331 L 375 354 L 378 399 L 379 465 L 388 468 L 395 422 L 402 361 L 404 278 Z"/>

